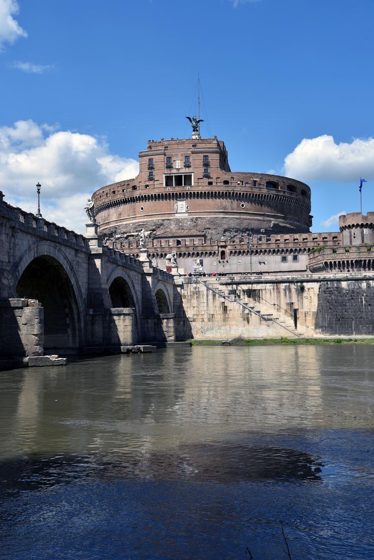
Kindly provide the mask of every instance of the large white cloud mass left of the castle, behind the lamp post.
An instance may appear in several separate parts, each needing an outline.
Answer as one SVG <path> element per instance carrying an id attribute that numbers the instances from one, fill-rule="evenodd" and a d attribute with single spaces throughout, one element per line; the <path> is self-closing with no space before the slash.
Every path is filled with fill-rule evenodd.
<path id="1" fill-rule="evenodd" d="M 135 177 L 139 163 L 109 152 L 104 140 L 88 134 L 55 132 L 54 127 L 19 120 L 0 127 L 0 190 L 6 201 L 83 231 L 87 198 L 100 186 Z"/>

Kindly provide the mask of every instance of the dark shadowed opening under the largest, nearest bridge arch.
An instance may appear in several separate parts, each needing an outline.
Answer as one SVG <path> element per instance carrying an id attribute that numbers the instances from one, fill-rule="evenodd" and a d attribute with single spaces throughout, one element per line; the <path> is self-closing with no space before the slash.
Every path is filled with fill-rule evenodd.
<path id="1" fill-rule="evenodd" d="M 37 256 L 16 286 L 18 297 L 38 300 L 44 309 L 44 351 L 74 352 L 82 346 L 81 314 L 72 282 L 57 259 Z"/>

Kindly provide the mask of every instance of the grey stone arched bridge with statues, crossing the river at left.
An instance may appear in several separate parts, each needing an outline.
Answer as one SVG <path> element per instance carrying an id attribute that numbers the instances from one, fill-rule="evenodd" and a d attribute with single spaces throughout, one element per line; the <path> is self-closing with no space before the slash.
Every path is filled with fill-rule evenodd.
<path id="1" fill-rule="evenodd" d="M 0 355 L 98 352 L 175 340 L 174 277 L 4 202 L 0 193 Z"/>

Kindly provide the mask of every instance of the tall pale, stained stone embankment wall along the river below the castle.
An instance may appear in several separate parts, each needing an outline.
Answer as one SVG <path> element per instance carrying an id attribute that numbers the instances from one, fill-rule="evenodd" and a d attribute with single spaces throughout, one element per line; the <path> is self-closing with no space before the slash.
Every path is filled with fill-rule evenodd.
<path id="1" fill-rule="evenodd" d="M 185 278 L 180 291 L 193 338 L 374 335 L 373 274 Z"/>

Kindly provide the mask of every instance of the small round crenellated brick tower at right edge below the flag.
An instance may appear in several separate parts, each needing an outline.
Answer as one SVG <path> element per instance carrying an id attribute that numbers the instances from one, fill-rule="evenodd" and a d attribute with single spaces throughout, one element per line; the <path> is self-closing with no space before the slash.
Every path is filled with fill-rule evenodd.
<path id="1" fill-rule="evenodd" d="M 343 245 L 374 245 L 374 212 L 351 212 L 339 216 Z"/>

